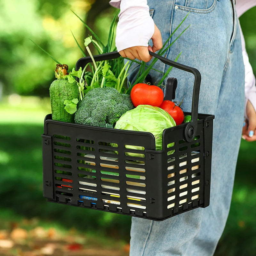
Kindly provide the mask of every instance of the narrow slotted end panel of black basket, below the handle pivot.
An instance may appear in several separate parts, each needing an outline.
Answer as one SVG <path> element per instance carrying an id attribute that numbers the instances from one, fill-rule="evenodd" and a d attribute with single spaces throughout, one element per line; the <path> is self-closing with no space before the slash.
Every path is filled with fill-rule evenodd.
<path id="1" fill-rule="evenodd" d="M 167 168 L 163 170 L 163 207 L 170 216 L 209 205 L 212 118 L 207 123 L 206 127 L 204 119 L 198 120 L 197 133 L 192 142 L 185 141 L 185 124 L 164 133 L 164 163 L 167 163 Z"/>

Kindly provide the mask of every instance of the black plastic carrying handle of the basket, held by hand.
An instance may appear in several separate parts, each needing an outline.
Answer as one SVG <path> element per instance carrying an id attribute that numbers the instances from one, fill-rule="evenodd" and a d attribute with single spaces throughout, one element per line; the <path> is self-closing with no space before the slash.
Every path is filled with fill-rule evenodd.
<path id="1" fill-rule="evenodd" d="M 184 70 L 186 72 L 192 73 L 195 76 L 194 80 L 194 88 L 193 88 L 193 95 L 192 95 L 192 107 L 191 107 L 191 122 L 187 123 L 184 129 L 184 136 L 185 139 L 188 142 L 191 142 L 194 140 L 195 135 L 196 135 L 196 127 L 197 127 L 197 117 L 198 117 L 198 102 L 199 102 L 199 90 L 200 90 L 200 84 L 201 84 L 201 74 L 196 68 L 192 68 L 183 64 L 180 64 L 178 62 L 175 62 L 173 60 L 168 60 L 155 52 L 150 52 L 149 54 L 159 60 L 161 60 L 164 64 L 168 66 L 172 66 L 174 68 L 178 68 L 181 70 Z M 94 55 L 93 58 L 95 61 L 101 61 L 101 60 L 112 60 L 120 57 L 120 54 L 115 51 L 115 52 L 108 52 L 108 53 L 103 53 L 99 55 Z M 78 70 L 80 67 L 82 69 L 84 66 L 92 62 L 91 57 L 84 57 L 80 58 L 76 62 L 76 70 Z"/>

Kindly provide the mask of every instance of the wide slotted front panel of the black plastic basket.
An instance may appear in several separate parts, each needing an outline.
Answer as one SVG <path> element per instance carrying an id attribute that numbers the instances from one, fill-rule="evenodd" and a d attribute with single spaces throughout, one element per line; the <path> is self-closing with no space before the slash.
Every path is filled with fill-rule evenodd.
<path id="1" fill-rule="evenodd" d="M 45 136 L 52 138 L 51 150 L 44 157 L 49 163 L 44 173 L 52 175 L 48 189 L 53 196 L 46 196 L 48 199 L 147 216 L 150 199 L 146 170 L 150 164 L 146 150 L 154 149 L 152 134 L 52 120 L 45 126 Z"/>

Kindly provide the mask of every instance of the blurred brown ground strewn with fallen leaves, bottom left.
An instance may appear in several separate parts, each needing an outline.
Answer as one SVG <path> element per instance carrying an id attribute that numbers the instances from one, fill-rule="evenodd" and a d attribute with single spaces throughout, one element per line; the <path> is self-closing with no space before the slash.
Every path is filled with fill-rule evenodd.
<path id="1" fill-rule="evenodd" d="M 96 236 L 95 236 L 96 237 Z M 128 256 L 129 244 L 40 226 L 32 229 L 11 224 L 0 229 L 0 256 Z M 97 239 L 97 240 L 96 240 Z"/>

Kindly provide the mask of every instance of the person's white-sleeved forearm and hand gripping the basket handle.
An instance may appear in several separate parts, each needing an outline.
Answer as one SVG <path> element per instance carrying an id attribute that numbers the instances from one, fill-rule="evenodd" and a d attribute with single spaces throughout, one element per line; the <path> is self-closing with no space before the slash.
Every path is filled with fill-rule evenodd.
<path id="1" fill-rule="evenodd" d="M 116 28 L 116 48 L 121 56 L 148 62 L 148 50 L 156 52 L 163 46 L 162 37 L 149 14 L 147 0 L 112 0 L 110 5 L 120 8 Z M 148 46 L 152 39 L 153 47 Z"/>

